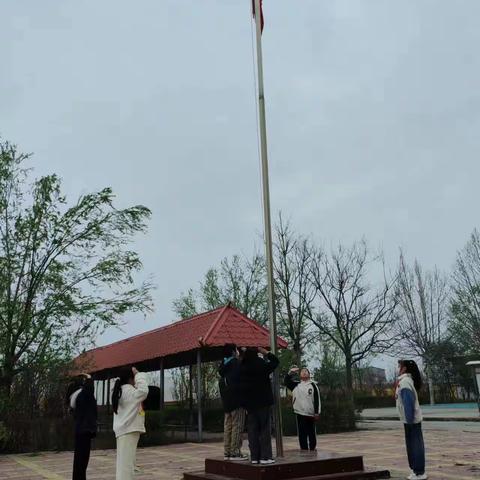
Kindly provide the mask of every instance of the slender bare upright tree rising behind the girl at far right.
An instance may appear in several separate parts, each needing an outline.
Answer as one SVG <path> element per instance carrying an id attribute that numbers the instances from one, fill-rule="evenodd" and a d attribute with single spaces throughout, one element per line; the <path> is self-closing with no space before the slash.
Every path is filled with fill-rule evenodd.
<path id="1" fill-rule="evenodd" d="M 430 404 L 435 403 L 434 365 L 439 345 L 445 340 L 448 322 L 448 280 L 436 268 L 424 272 L 415 260 L 407 265 L 400 254 L 397 294 L 399 321 L 396 330 L 401 349 L 422 359 L 429 385 Z"/>

